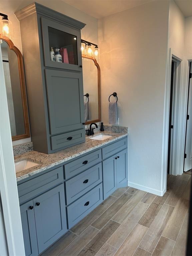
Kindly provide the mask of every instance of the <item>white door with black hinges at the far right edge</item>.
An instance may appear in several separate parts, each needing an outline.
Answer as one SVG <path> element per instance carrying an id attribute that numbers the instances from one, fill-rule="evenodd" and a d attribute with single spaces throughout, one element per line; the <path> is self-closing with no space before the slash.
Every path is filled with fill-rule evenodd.
<path id="1" fill-rule="evenodd" d="M 192 62 L 189 63 L 189 82 L 187 98 L 187 120 L 185 132 L 185 154 L 183 171 L 192 170 Z"/>

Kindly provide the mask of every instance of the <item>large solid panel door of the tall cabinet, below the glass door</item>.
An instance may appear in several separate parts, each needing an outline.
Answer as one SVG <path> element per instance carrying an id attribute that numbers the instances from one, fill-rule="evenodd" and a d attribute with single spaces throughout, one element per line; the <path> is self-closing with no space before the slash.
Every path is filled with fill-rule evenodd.
<path id="1" fill-rule="evenodd" d="M 82 73 L 45 70 L 51 135 L 84 128 Z"/>

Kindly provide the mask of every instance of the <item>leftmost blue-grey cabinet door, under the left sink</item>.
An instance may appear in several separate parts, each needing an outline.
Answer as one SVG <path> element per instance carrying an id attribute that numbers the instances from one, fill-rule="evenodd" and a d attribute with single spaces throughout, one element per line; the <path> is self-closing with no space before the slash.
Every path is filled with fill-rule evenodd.
<path id="1" fill-rule="evenodd" d="M 30 209 L 31 208 L 31 209 Z M 37 235 L 35 229 L 35 215 L 33 209 L 33 200 L 20 206 L 21 222 L 23 229 L 23 239 L 26 256 L 37 256 Z"/>

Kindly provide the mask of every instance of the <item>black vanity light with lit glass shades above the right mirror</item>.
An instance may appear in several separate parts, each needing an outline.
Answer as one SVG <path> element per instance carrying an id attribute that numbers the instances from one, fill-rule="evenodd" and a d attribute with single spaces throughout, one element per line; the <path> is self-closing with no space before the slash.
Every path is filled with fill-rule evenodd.
<path id="1" fill-rule="evenodd" d="M 95 47 L 93 48 L 93 46 Z M 98 48 L 98 45 L 85 41 L 83 39 L 81 39 L 81 52 L 83 55 L 86 55 L 87 57 L 93 57 L 96 60 L 100 59 L 100 49 Z"/>

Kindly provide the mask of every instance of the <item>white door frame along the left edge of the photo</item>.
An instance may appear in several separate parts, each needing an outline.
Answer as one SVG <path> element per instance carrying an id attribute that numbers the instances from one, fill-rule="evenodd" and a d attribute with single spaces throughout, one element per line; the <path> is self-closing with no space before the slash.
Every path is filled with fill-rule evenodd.
<path id="1" fill-rule="evenodd" d="M 25 255 L 2 54 L 0 48 L 0 194 L 8 255 Z"/>

